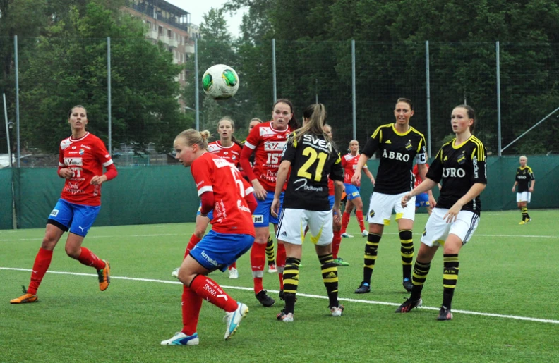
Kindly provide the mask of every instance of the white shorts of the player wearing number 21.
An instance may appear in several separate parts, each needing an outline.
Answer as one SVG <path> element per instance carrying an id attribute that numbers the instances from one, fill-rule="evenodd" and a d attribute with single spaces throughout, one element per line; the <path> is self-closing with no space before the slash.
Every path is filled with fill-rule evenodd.
<path id="1" fill-rule="evenodd" d="M 302 245 L 305 240 L 305 230 L 311 242 L 325 246 L 332 243 L 332 211 L 307 211 L 306 209 L 285 208 L 279 216 L 277 225 L 277 239 L 293 245 Z"/>

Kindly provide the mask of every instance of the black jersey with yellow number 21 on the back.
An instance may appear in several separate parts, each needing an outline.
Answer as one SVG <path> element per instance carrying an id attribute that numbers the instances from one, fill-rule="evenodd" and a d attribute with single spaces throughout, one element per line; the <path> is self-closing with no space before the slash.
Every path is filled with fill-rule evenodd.
<path id="1" fill-rule="evenodd" d="M 282 156 L 282 161 L 291 162 L 282 207 L 327 211 L 328 178 L 344 180 L 339 152 L 324 135 L 305 134 L 299 141 L 295 137 L 296 133 L 289 136 Z"/>

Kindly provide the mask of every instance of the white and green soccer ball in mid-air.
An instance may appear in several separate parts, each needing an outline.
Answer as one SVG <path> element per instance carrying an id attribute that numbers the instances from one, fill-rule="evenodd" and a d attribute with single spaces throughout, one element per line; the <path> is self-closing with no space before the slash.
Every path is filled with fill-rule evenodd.
<path id="1" fill-rule="evenodd" d="M 213 99 L 228 99 L 239 90 L 239 75 L 224 64 L 216 64 L 205 71 L 202 89 Z"/>

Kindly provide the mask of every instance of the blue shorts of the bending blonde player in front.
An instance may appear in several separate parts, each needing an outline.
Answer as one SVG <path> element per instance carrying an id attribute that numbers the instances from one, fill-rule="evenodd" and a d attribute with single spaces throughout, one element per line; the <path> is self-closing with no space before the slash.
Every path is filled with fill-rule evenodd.
<path id="1" fill-rule="evenodd" d="M 251 249 L 254 237 L 232 233 L 217 233 L 210 230 L 190 252 L 198 264 L 213 271 L 227 270 L 227 267 Z"/>

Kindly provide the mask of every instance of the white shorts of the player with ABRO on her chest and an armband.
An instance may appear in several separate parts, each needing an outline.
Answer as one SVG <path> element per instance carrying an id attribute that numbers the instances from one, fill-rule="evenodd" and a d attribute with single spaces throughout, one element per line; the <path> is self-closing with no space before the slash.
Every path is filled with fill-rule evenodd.
<path id="1" fill-rule="evenodd" d="M 396 212 L 396 221 L 398 219 L 415 219 L 415 197 L 409 199 L 406 208 L 402 208 L 402 197 L 408 192 L 400 194 L 383 194 L 373 192 L 371 199 L 369 199 L 369 210 L 367 214 L 368 223 L 390 224 L 390 216 L 392 216 L 392 209 Z"/>

